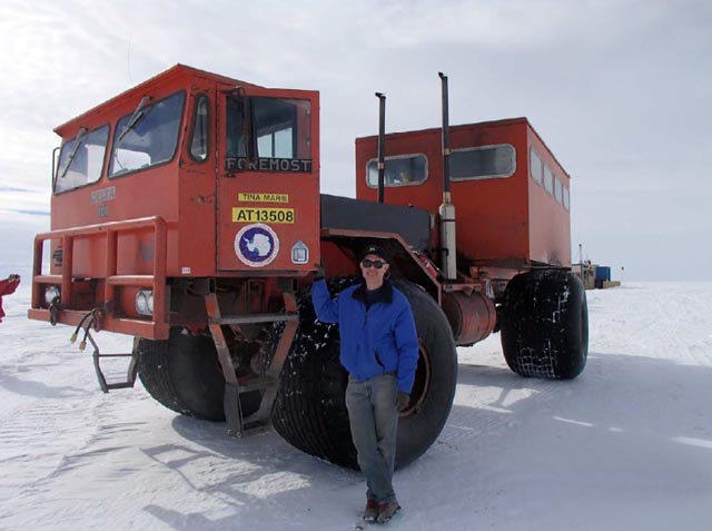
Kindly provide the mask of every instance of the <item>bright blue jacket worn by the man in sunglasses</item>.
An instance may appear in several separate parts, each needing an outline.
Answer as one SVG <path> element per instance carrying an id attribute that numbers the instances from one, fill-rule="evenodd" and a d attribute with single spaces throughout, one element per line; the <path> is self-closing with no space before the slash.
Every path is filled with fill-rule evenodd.
<path id="1" fill-rule="evenodd" d="M 364 283 L 332 298 L 326 281 L 312 285 L 312 302 L 323 323 L 338 323 L 340 362 L 356 380 L 395 373 L 398 391 L 409 393 L 418 362 L 418 336 L 411 303 L 385 283 L 384 297 L 366 309 Z"/>

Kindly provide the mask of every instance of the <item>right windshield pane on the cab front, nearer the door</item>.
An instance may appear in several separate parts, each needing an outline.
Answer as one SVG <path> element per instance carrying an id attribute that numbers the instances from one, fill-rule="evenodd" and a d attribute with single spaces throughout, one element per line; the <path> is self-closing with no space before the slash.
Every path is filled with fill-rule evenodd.
<path id="1" fill-rule="evenodd" d="M 145 169 L 174 157 L 184 100 L 185 94 L 177 92 L 152 105 L 139 105 L 137 110 L 119 120 L 109 166 L 110 177 Z"/>

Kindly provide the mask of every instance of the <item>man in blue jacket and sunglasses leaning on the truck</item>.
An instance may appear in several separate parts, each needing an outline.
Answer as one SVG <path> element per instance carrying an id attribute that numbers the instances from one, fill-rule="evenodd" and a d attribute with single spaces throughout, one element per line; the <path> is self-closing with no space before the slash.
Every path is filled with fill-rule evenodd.
<path id="1" fill-rule="evenodd" d="M 383 523 L 400 510 L 393 489 L 396 433 L 398 413 L 411 400 L 418 337 L 408 299 L 388 281 L 385 250 L 367 247 L 359 266 L 363 282 L 334 298 L 317 274 L 312 298 L 317 318 L 339 326 L 346 407 L 368 486 L 364 520 Z"/>

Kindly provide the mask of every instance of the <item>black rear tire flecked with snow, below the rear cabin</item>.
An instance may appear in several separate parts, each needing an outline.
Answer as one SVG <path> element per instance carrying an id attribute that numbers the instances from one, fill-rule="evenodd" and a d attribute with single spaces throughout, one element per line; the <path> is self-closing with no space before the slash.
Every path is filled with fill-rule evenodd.
<path id="1" fill-rule="evenodd" d="M 573 273 L 533 271 L 515 276 L 504 293 L 502 350 L 521 376 L 575 378 L 589 354 L 589 306 Z"/>

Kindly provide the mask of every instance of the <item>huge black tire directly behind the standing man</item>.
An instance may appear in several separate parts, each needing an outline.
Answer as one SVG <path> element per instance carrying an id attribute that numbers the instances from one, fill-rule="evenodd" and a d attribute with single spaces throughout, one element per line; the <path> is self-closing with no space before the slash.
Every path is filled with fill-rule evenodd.
<path id="1" fill-rule="evenodd" d="M 337 293 L 357 278 L 329 281 Z M 408 409 L 398 424 L 396 468 L 422 455 L 437 439 L 455 396 L 457 357 L 445 315 L 421 287 L 397 287 L 413 307 L 421 357 Z M 300 297 L 300 323 L 273 410 L 277 432 L 299 450 L 342 466 L 358 468 L 344 394 L 348 377 L 338 361 L 336 325 L 316 321 L 312 296 Z"/>

